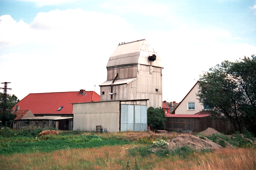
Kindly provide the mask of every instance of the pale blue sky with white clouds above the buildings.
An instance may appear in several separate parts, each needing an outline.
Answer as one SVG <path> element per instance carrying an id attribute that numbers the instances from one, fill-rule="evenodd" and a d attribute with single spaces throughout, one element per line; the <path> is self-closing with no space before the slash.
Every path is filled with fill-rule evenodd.
<path id="1" fill-rule="evenodd" d="M 0 0 L 0 81 L 20 100 L 100 94 L 118 44 L 139 39 L 163 62 L 163 101 L 180 102 L 210 67 L 256 54 L 256 1 Z"/>

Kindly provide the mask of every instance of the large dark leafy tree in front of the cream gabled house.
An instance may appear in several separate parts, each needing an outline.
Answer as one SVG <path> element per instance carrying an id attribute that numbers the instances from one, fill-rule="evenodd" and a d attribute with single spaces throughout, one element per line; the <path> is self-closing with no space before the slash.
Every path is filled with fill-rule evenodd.
<path id="1" fill-rule="evenodd" d="M 201 75 L 199 101 L 225 115 L 236 131 L 256 127 L 256 57 L 223 61 Z"/>

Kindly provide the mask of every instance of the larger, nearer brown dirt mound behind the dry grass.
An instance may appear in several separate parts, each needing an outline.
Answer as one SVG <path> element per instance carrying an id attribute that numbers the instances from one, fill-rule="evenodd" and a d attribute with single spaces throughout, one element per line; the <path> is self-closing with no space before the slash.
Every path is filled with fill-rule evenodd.
<path id="1" fill-rule="evenodd" d="M 207 138 L 199 138 L 194 135 L 181 134 L 168 141 L 169 149 L 173 147 L 189 146 L 196 150 L 208 148 L 211 150 L 222 148 L 222 146 L 212 142 Z"/>

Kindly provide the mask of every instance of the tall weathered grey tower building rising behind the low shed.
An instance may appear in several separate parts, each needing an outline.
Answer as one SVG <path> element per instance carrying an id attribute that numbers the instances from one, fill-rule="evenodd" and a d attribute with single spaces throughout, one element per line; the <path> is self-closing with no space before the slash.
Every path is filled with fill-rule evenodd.
<path id="1" fill-rule="evenodd" d="M 162 107 L 162 70 L 146 39 L 120 44 L 109 57 L 100 101 L 149 99 L 148 107 Z"/>

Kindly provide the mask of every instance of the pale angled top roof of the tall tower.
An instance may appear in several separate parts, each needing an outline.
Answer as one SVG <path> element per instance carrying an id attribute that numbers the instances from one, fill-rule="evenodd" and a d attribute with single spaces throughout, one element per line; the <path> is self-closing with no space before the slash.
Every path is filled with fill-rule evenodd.
<path id="1" fill-rule="evenodd" d="M 149 56 L 156 55 L 155 61 L 148 60 Z M 146 39 L 119 44 L 108 60 L 107 68 L 143 64 L 155 67 L 163 67 L 160 56 Z"/>

